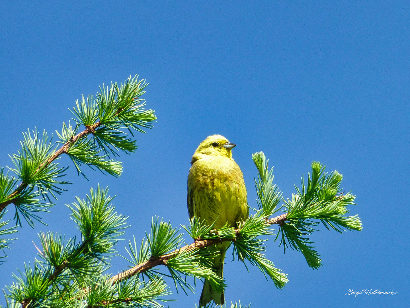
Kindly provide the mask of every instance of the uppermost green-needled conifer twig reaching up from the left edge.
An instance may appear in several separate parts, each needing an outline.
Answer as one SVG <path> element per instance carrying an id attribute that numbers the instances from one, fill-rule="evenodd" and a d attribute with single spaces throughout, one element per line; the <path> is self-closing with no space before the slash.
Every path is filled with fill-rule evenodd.
<path id="1" fill-rule="evenodd" d="M 61 154 L 67 154 L 73 161 L 78 175 L 87 177 L 80 170 L 82 164 L 92 170 L 107 172 L 114 177 L 121 176 L 122 165 L 111 156 L 119 156 L 118 151 L 131 154 L 136 151 L 137 143 L 129 137 L 125 130 L 134 137 L 132 129 L 145 133 L 142 128 L 152 128 L 157 117 L 154 110 L 144 108 L 145 101 L 141 95 L 148 85 L 145 80 L 138 80 L 138 76 L 130 76 L 124 83 L 111 83 L 111 87 L 100 87 L 95 99 L 90 94 L 87 100 L 82 97 L 76 101 L 71 111 L 76 122 L 75 127 L 63 122 L 61 133 L 57 132 L 61 143 L 58 147 L 48 142 L 46 131 L 39 138 L 37 129 L 23 133 L 21 150 L 10 156 L 15 168 L 9 168 L 16 176 L 3 174 L 0 169 L 0 214 L 4 213 L 9 204 L 16 206 L 16 224 L 21 225 L 20 214 L 30 226 L 34 227 L 34 220 L 39 222 L 41 217 L 36 212 L 46 212 L 52 207 L 50 196 L 57 200 L 62 184 L 70 184 L 58 178 L 64 177 L 68 168 L 59 167 L 55 162 Z M 85 128 L 80 130 L 80 126 Z M 90 138 L 92 136 L 92 138 Z M 96 169 L 95 169 L 96 168 Z M 37 198 L 40 197 L 40 198 Z M 48 202 L 47 202 L 48 201 Z M 20 214 L 19 214 L 20 213 Z"/>

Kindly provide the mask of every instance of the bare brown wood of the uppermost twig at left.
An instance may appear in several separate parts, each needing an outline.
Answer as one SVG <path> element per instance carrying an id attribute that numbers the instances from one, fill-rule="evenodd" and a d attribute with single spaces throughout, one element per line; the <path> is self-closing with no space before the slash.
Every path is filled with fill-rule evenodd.
<path id="1" fill-rule="evenodd" d="M 43 161 L 40 164 L 39 168 L 37 168 L 36 172 L 39 172 L 43 168 L 46 168 L 52 161 L 57 159 L 57 157 L 61 154 L 67 153 L 69 147 L 73 145 L 73 143 L 75 143 L 78 139 L 87 136 L 89 133 L 94 133 L 96 131 L 96 128 L 98 128 L 100 125 L 101 123 L 100 121 L 98 121 L 91 126 L 87 126 L 86 129 L 84 129 L 84 131 L 82 131 L 81 133 L 77 133 L 77 135 L 71 137 L 70 140 L 64 143 L 64 145 L 62 145 L 62 147 L 60 147 L 54 154 L 52 154 L 49 159 Z M 8 195 L 7 199 L 9 200 L 0 203 L 0 213 L 7 207 L 7 205 L 14 203 L 17 199 L 16 195 L 18 195 L 18 193 L 21 193 L 21 191 L 23 191 L 27 186 L 28 183 L 21 183 L 20 186 L 18 186 L 10 195 Z"/>

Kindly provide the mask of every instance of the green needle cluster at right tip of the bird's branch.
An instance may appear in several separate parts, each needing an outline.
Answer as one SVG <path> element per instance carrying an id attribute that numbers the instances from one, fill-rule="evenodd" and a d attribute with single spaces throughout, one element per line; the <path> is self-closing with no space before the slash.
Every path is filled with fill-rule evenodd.
<path id="1" fill-rule="evenodd" d="M 283 251 L 287 247 L 301 251 L 307 264 L 312 269 L 318 269 L 322 265 L 320 255 L 314 243 L 309 239 L 319 223 L 328 230 L 333 229 L 342 233 L 347 230 L 362 230 L 362 221 L 358 215 L 346 216 L 348 205 L 355 205 L 355 197 L 351 191 L 342 193 L 340 184 L 343 176 L 333 171 L 324 172 L 325 166 L 314 161 L 312 172 L 307 174 L 307 183 L 304 177 L 301 179 L 301 188 L 296 188 L 296 194 L 292 198 L 284 200 L 287 211 L 287 222 L 280 225 L 278 237 Z"/>

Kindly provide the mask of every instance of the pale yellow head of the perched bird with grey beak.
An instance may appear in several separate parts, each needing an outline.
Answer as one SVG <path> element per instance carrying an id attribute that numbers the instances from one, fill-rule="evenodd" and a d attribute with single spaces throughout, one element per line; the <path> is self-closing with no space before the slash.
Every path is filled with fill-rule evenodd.
<path id="1" fill-rule="evenodd" d="M 235 143 L 229 142 L 228 139 L 221 135 L 208 136 L 196 149 L 191 159 L 191 165 L 198 159 L 206 156 L 225 156 L 232 158 L 231 150 L 235 146 Z"/>

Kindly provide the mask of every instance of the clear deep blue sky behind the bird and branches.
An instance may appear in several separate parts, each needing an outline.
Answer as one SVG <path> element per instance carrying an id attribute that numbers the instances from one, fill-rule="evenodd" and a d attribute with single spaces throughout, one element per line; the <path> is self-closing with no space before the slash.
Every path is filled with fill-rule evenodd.
<path id="1" fill-rule="evenodd" d="M 410 295 L 409 17 L 408 1 L 3 1 L 1 166 L 11 165 L 8 154 L 20 147 L 22 131 L 61 130 L 82 94 L 130 75 L 150 83 L 145 99 L 158 120 L 137 134 L 135 154 L 121 156 L 119 179 L 85 169 L 86 181 L 71 166 L 67 179 L 74 184 L 43 215 L 48 226 L 23 225 L 0 265 L 0 285 L 34 260 L 38 232 L 78 234 L 64 204 L 98 183 L 129 216 L 127 241 L 140 241 L 154 215 L 187 224 L 191 155 L 217 133 L 238 145 L 233 155 L 251 206 L 251 154 L 264 151 L 285 198 L 313 160 L 341 172 L 342 187 L 357 195 L 351 213 L 363 220 L 362 232 L 321 228 L 312 236 L 323 260 L 318 271 L 270 240 L 266 255 L 289 274 L 283 290 L 258 269 L 247 273 L 230 262 L 228 253 L 227 301 L 255 308 L 403 307 Z M 122 254 L 127 241 L 118 245 Z M 114 258 L 112 272 L 127 265 Z M 201 288 L 172 295 L 178 301 L 171 306 L 194 307 Z M 399 293 L 344 295 L 367 288 Z"/>

